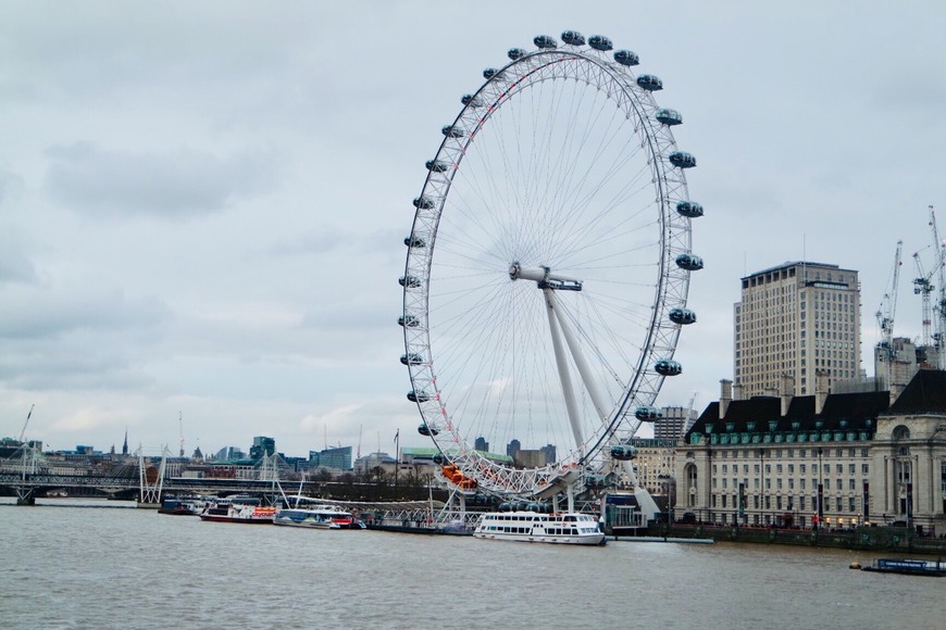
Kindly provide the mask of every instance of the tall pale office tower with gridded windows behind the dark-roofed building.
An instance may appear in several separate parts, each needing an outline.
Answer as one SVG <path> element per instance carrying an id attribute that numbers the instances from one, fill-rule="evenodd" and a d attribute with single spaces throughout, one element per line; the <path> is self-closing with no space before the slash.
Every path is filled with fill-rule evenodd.
<path id="1" fill-rule="evenodd" d="M 746 276 L 734 318 L 736 399 L 812 395 L 818 374 L 829 390 L 860 374 L 855 270 L 795 262 Z"/>

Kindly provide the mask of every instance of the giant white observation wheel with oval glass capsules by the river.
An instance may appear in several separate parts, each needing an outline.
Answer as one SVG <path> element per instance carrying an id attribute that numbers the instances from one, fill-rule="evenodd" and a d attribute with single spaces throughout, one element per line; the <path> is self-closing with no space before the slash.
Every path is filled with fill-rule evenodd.
<path id="1" fill-rule="evenodd" d="M 635 53 L 561 39 L 462 97 L 404 239 L 408 399 L 469 490 L 534 495 L 628 454 L 696 322 L 682 116 Z"/>

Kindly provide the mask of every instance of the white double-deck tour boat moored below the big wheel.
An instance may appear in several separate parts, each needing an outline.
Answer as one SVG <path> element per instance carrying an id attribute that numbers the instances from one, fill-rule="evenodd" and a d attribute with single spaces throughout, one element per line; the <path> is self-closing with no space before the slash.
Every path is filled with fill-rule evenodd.
<path id="1" fill-rule="evenodd" d="M 521 542 L 605 544 L 605 532 L 595 516 L 574 512 L 488 512 L 480 517 L 473 536 Z"/>

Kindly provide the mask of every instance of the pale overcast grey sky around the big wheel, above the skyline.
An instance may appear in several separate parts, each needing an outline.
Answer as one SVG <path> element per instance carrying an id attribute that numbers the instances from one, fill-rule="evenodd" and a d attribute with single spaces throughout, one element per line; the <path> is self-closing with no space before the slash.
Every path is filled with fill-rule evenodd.
<path id="1" fill-rule="evenodd" d="M 883 8 L 875 8 L 883 4 Z M 411 199 L 482 71 L 564 29 L 663 79 L 695 275 L 658 403 L 732 378 L 739 278 L 860 272 L 863 368 L 903 239 L 946 232 L 946 4 L 0 0 L 0 437 L 287 455 L 431 445 L 397 317 Z"/>

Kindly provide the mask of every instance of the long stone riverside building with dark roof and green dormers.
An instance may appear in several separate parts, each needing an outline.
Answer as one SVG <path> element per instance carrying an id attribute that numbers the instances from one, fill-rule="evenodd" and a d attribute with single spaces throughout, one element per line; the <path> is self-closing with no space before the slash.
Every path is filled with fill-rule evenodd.
<path id="1" fill-rule="evenodd" d="M 677 518 L 946 532 L 946 373 L 889 392 L 732 400 L 723 381 L 676 452 Z"/>

